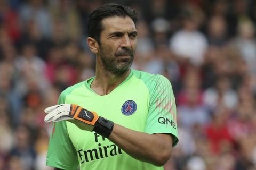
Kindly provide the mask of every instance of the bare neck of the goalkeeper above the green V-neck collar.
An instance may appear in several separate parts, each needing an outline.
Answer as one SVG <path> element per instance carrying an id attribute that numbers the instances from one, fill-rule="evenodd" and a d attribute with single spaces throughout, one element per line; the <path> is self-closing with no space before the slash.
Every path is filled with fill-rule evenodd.
<path id="1" fill-rule="evenodd" d="M 106 70 L 97 69 L 96 67 L 95 79 L 91 84 L 91 89 L 98 95 L 107 95 L 121 84 L 128 77 L 130 72 L 131 69 L 121 75 L 116 75 Z"/>

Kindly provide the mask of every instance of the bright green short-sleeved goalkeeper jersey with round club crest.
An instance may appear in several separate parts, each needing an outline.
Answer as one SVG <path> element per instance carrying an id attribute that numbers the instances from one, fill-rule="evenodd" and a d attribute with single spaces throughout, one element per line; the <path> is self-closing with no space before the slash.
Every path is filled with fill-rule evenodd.
<path id="1" fill-rule="evenodd" d="M 67 88 L 58 103 L 77 104 L 135 131 L 172 134 L 173 146 L 176 145 L 176 106 L 169 80 L 131 70 L 110 94 L 100 96 L 90 88 L 93 79 Z M 163 169 L 132 158 L 107 138 L 68 121 L 53 124 L 46 165 L 69 170 Z"/>

